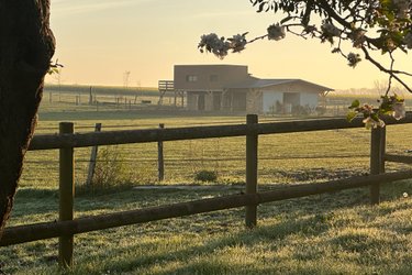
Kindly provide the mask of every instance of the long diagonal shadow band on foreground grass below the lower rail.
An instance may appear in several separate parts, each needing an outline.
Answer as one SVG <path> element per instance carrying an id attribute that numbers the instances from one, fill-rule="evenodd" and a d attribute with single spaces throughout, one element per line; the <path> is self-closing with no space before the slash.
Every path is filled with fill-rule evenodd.
<path id="1" fill-rule="evenodd" d="M 282 222 L 278 222 L 274 226 L 259 226 L 254 230 L 242 230 L 238 233 L 216 238 L 213 241 L 205 243 L 204 245 L 191 245 L 190 242 L 183 241 L 189 245 L 188 249 L 177 249 L 174 250 L 174 246 L 170 245 L 164 252 L 160 253 L 152 253 L 149 255 L 145 254 L 144 252 L 153 252 L 154 246 L 156 243 L 145 243 L 145 244 L 137 244 L 133 248 L 127 248 L 130 251 L 142 251 L 143 253 L 137 258 L 134 256 L 125 256 L 125 257 L 115 257 L 115 261 L 108 263 L 107 267 L 110 272 L 114 273 L 124 273 L 124 272 L 132 272 L 135 270 L 144 271 L 154 265 L 162 263 L 163 266 L 167 266 L 168 264 L 175 262 L 183 262 L 185 266 L 167 270 L 166 272 L 160 272 L 158 274 L 238 274 L 242 268 L 245 266 L 240 266 L 238 271 L 234 271 L 232 265 L 224 266 L 222 264 L 216 263 L 202 263 L 197 261 L 199 257 L 204 255 L 212 255 L 218 251 L 223 251 L 227 248 L 236 248 L 236 246 L 248 246 L 252 248 L 261 242 L 274 242 L 282 240 L 287 237 L 293 234 L 304 234 L 307 238 L 321 234 L 325 232 L 329 228 L 319 222 L 320 217 L 312 217 L 312 218 L 304 218 L 300 220 L 286 220 Z M 167 245 L 167 244 L 165 244 Z M 178 245 L 180 248 L 180 245 Z M 111 251 L 110 254 L 112 255 L 130 255 L 124 249 L 116 249 Z M 105 257 L 108 254 L 107 252 L 102 252 L 98 255 L 98 257 L 102 256 Z M 321 257 L 322 255 L 316 254 L 313 257 Z M 96 255 L 90 258 L 85 258 L 86 262 L 96 260 Z M 204 266 L 201 266 L 204 265 Z M 202 273 L 201 271 L 204 271 Z M 75 268 L 76 271 L 76 268 Z M 200 273 L 199 273 L 200 271 Z M 193 273 L 194 272 L 194 273 Z"/>

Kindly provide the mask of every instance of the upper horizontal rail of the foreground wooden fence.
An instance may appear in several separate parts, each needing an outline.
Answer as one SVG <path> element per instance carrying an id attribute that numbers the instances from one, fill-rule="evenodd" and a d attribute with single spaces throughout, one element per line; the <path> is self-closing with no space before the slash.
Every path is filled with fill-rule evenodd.
<path id="1" fill-rule="evenodd" d="M 412 123 L 412 113 L 407 118 L 397 121 L 386 118 L 387 124 Z M 94 145 L 114 145 L 129 143 L 144 143 L 158 141 L 182 141 L 197 139 L 245 136 L 253 132 L 257 134 L 297 133 L 322 130 L 363 128 L 363 119 L 357 118 L 352 122 L 346 119 L 316 119 L 302 121 L 285 121 L 247 124 L 229 124 L 213 127 L 191 127 L 172 129 L 151 129 L 151 130 L 125 130 L 105 131 L 75 134 L 45 134 L 35 135 L 29 150 L 52 150 L 62 147 L 88 147 Z"/>

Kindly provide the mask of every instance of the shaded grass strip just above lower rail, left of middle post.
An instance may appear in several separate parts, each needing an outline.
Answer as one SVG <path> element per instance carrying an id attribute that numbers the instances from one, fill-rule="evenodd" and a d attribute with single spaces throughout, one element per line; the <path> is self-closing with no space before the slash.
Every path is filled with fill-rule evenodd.
<path id="1" fill-rule="evenodd" d="M 82 216 L 82 212 L 87 212 L 89 216 L 93 211 L 99 211 L 99 213 L 123 211 L 233 194 L 232 189 L 219 190 L 216 188 L 140 190 L 133 189 L 130 185 L 104 189 L 77 188 L 77 191 L 79 193 L 75 196 L 75 215 L 77 217 Z M 12 217 L 24 219 L 31 216 L 58 215 L 58 205 L 59 193 L 57 189 L 21 188 L 15 196 Z"/>

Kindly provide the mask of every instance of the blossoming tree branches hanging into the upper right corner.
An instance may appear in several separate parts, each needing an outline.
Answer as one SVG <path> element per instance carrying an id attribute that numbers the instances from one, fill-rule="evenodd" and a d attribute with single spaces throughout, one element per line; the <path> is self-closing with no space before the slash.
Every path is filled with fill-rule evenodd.
<path id="1" fill-rule="evenodd" d="M 357 113 L 364 113 L 367 127 L 383 125 L 381 114 L 401 118 L 404 113 L 403 100 L 397 95 L 390 96 L 392 80 L 398 81 L 409 92 L 412 87 L 405 81 L 412 78 L 412 72 L 396 69 L 394 52 L 408 53 L 412 48 L 412 1 L 411 0 L 249 0 L 257 12 L 275 12 L 279 22 L 267 28 L 266 34 L 246 40 L 247 33 L 225 38 L 215 33 L 201 36 L 200 51 L 210 52 L 224 58 L 229 51 L 242 52 L 245 46 L 257 40 L 279 41 L 287 33 L 304 40 L 314 38 L 329 42 L 332 53 L 342 55 L 350 67 L 361 61 L 361 56 L 388 75 L 388 86 L 381 97 L 379 110 L 369 105 L 354 101 L 348 114 L 352 120 Z M 345 51 L 349 44 L 354 50 Z M 374 57 L 378 52 L 389 58 L 389 66 Z"/>

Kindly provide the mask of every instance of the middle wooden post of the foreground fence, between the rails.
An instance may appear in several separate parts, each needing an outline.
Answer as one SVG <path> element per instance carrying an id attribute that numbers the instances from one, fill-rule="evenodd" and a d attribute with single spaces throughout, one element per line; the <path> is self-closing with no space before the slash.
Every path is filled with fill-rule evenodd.
<path id="1" fill-rule="evenodd" d="M 248 127 L 258 123 L 257 114 L 247 114 L 246 123 Z M 249 131 L 246 135 L 246 194 L 257 193 L 257 141 L 258 135 L 255 131 Z M 245 222 L 247 228 L 256 227 L 257 205 L 246 206 Z"/>

